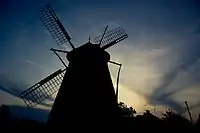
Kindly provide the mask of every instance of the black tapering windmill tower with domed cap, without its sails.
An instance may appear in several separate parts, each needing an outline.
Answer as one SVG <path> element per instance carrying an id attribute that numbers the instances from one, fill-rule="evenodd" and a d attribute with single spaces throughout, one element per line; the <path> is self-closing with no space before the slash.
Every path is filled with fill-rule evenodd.
<path id="1" fill-rule="evenodd" d="M 67 59 L 68 69 L 48 124 L 59 128 L 78 123 L 101 127 L 112 124 L 118 108 L 108 69 L 110 55 L 100 45 L 86 43 L 68 53 Z"/>

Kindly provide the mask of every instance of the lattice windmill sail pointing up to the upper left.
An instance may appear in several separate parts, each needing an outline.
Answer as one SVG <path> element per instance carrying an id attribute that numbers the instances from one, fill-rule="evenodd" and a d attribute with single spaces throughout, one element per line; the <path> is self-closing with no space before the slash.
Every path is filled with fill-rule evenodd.
<path id="1" fill-rule="evenodd" d="M 75 48 L 70 41 L 71 38 L 69 34 L 67 33 L 67 31 L 59 21 L 58 17 L 56 16 L 55 12 L 49 5 L 45 5 L 40 8 L 40 15 L 42 22 L 49 30 L 58 45 L 61 46 L 69 42 L 71 47 L 73 49 Z"/>

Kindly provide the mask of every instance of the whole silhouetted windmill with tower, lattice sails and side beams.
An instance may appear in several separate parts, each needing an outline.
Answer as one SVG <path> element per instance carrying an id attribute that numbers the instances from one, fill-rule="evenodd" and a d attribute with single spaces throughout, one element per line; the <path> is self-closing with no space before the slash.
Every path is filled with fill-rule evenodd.
<path id="1" fill-rule="evenodd" d="M 65 66 L 20 94 L 27 106 L 34 107 L 58 91 L 47 124 L 49 127 L 68 128 L 85 123 L 102 127 L 114 122 L 118 115 L 117 96 L 121 64 L 110 61 L 105 50 L 126 39 L 124 29 L 117 27 L 75 48 L 49 5 L 40 8 L 41 19 L 58 45 L 69 44 L 71 51 L 52 50 Z M 57 52 L 66 53 L 68 66 Z M 119 66 L 116 94 L 109 73 L 108 62 Z M 94 117 L 95 116 L 95 117 Z M 101 120 L 105 123 L 97 124 Z M 66 121 L 70 122 L 70 124 Z M 78 121 L 78 123 L 77 123 Z M 80 124 L 81 125 L 81 124 Z M 71 127 L 72 128 L 72 127 Z"/>

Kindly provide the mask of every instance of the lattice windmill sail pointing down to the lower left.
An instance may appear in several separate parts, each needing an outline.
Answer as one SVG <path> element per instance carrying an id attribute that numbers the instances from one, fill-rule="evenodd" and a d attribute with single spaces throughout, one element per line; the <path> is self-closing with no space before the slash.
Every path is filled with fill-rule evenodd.
<path id="1" fill-rule="evenodd" d="M 34 107 L 56 93 L 62 83 L 66 69 L 54 72 L 20 94 L 28 107 Z"/>

